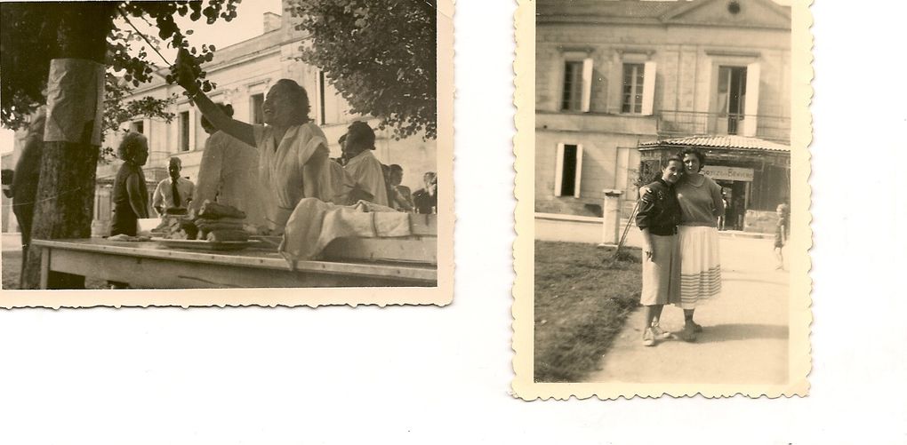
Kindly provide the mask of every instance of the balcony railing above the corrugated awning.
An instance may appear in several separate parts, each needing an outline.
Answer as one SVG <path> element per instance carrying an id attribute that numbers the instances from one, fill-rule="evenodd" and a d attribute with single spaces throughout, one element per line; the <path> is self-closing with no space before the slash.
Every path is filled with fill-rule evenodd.
<path id="1" fill-rule="evenodd" d="M 754 134 L 746 134 L 747 119 L 756 119 Z M 702 111 L 658 111 L 656 129 L 660 137 L 682 137 L 702 134 L 736 134 L 776 142 L 790 142 L 790 118 L 762 114 L 726 114 Z"/>

